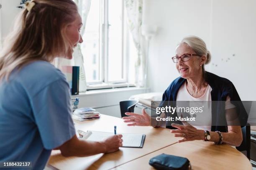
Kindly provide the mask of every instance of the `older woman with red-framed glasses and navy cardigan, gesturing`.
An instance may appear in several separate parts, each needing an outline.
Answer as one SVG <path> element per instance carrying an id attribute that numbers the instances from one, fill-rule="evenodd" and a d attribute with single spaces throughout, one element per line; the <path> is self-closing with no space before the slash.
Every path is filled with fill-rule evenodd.
<path id="1" fill-rule="evenodd" d="M 179 122 L 179 124 L 172 123 L 168 126 L 165 121 L 151 118 L 144 109 L 142 114 L 126 113 L 128 117 L 123 117 L 124 122 L 127 122 L 128 126 L 165 126 L 172 129 L 171 133 L 174 133 L 175 137 L 182 137 L 178 142 L 205 140 L 216 144 L 241 145 L 243 137 L 240 125 L 247 121 L 248 116 L 239 115 L 239 120 L 244 120 L 243 123 L 218 125 L 219 121 L 223 121 L 220 119 L 228 122 L 230 114 L 234 112 L 246 112 L 243 105 L 233 102 L 241 101 L 233 83 L 205 71 L 205 64 L 208 64 L 210 59 L 210 52 L 202 39 L 195 36 L 185 37 L 177 46 L 176 55 L 172 57 L 180 77 L 165 90 L 160 104 L 162 106 L 164 102 L 169 101 L 224 101 L 224 105 L 216 107 L 212 107 L 212 102 L 208 102 L 210 106 L 204 109 L 212 116 L 205 116 L 205 122 L 202 125 L 195 126 L 188 122 Z M 225 113 L 224 118 L 222 113 Z"/>

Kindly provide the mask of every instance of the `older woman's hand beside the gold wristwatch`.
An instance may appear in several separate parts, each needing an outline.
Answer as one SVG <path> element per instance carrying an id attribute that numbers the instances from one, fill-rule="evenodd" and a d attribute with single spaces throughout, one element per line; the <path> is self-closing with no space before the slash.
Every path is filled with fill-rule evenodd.
<path id="1" fill-rule="evenodd" d="M 205 131 L 198 130 L 197 128 L 190 125 L 188 122 L 182 122 L 183 125 L 172 123 L 172 127 L 178 128 L 175 130 L 170 130 L 171 133 L 174 133 L 175 137 L 183 137 L 178 142 L 192 141 L 192 140 L 204 140 Z"/>

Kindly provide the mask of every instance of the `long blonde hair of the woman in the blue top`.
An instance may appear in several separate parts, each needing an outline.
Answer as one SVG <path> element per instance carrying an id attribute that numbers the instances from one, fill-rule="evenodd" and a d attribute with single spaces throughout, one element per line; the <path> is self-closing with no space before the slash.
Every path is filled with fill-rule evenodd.
<path id="1" fill-rule="evenodd" d="M 31 10 L 24 9 L 15 21 L 0 54 L 0 80 L 29 62 L 66 56 L 72 45 L 66 36 L 67 25 L 76 16 L 72 0 L 33 0 Z"/>

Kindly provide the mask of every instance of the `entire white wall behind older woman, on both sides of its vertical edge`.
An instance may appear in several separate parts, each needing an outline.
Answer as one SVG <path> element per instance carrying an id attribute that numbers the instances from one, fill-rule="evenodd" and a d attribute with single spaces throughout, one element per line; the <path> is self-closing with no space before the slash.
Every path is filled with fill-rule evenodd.
<path id="1" fill-rule="evenodd" d="M 242 100 L 255 100 L 255 0 L 146 1 L 145 22 L 160 27 L 149 51 L 152 91 L 163 92 L 179 76 L 171 60 L 175 47 L 182 37 L 197 35 L 212 53 L 206 70 L 231 80 Z"/>

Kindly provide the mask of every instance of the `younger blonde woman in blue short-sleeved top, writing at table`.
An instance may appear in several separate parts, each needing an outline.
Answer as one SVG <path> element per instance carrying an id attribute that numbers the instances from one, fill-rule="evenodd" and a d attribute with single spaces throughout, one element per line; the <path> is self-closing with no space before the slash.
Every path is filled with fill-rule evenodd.
<path id="1" fill-rule="evenodd" d="M 122 135 L 102 142 L 77 138 L 69 85 L 50 63 L 72 58 L 83 41 L 81 26 L 72 0 L 33 0 L 20 13 L 0 54 L 0 163 L 31 161 L 42 170 L 53 149 L 88 156 L 122 146 Z"/>

